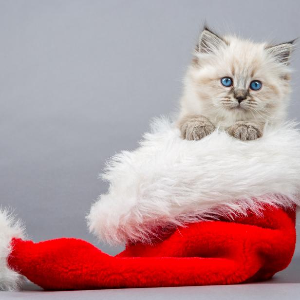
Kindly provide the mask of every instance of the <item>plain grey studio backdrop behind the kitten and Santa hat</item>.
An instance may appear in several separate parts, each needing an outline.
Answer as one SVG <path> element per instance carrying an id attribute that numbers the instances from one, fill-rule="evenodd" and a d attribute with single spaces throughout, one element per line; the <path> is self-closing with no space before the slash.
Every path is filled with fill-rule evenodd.
<path id="1" fill-rule="evenodd" d="M 299 3 L 1 0 L 2 206 L 35 241 L 96 244 L 85 215 L 108 187 L 97 175 L 137 146 L 152 117 L 174 111 L 203 20 L 220 33 L 289 41 L 300 36 Z M 299 51 L 292 66 L 290 117 L 300 121 Z"/>

